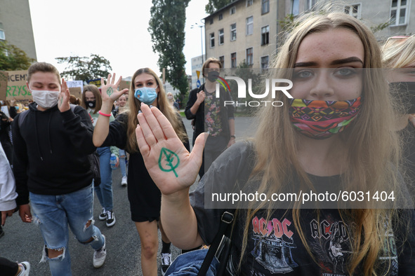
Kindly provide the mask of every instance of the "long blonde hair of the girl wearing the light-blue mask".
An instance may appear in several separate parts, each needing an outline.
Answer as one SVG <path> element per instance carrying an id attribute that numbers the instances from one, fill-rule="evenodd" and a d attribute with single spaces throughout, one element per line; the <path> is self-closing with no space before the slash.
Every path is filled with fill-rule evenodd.
<path id="1" fill-rule="evenodd" d="M 126 149 L 130 153 L 137 152 L 138 151 L 138 145 L 137 145 L 137 138 L 136 138 L 136 127 L 138 124 L 137 114 L 138 111 L 140 111 L 141 102 L 139 99 L 134 97 L 134 90 L 136 89 L 136 85 L 134 83 L 134 80 L 136 77 L 140 74 L 150 74 L 154 77 L 154 80 L 156 81 L 157 85 L 159 85 L 159 94 L 157 95 L 157 105 L 160 111 L 166 116 L 167 120 L 171 123 L 173 126 L 174 131 L 180 138 L 182 142 L 187 142 L 187 134 L 183 130 L 183 126 L 180 123 L 180 119 L 178 118 L 178 113 L 174 111 L 173 106 L 169 104 L 167 97 L 166 97 L 166 91 L 164 91 L 164 87 L 162 85 L 162 81 L 160 81 L 159 76 L 152 71 L 150 68 L 141 68 L 138 69 L 131 78 L 131 87 L 129 91 L 129 111 L 126 111 L 128 114 L 128 125 L 127 125 L 127 144 Z"/>

